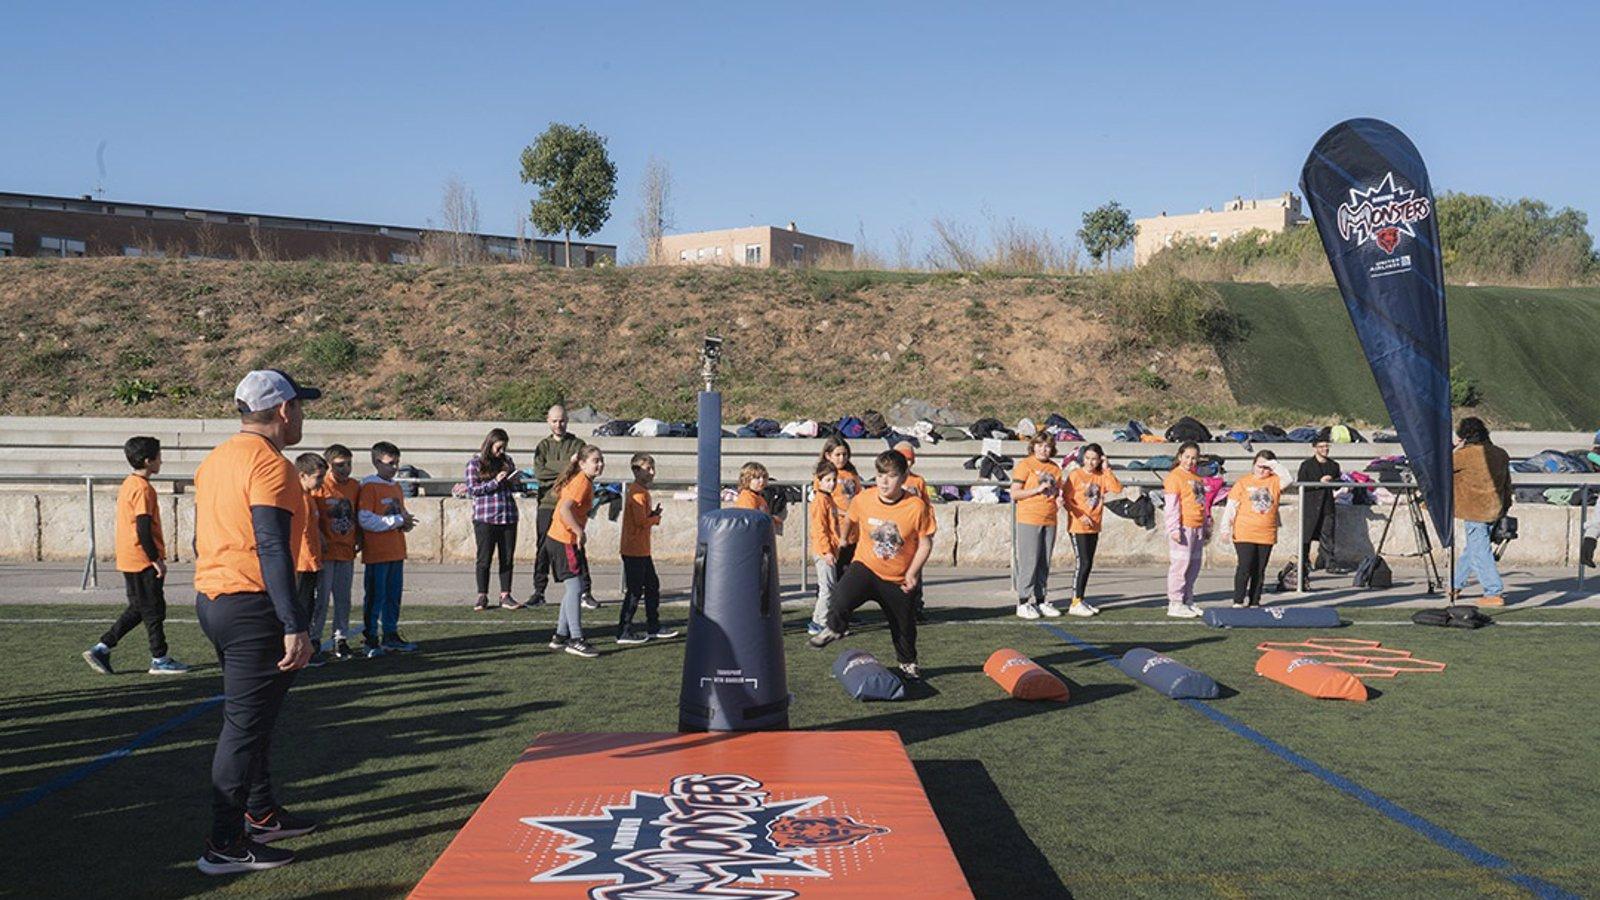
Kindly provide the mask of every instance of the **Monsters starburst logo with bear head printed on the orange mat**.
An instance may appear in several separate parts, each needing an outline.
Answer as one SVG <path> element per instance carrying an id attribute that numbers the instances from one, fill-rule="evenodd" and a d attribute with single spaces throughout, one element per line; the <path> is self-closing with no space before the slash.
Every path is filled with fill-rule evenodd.
<path id="1" fill-rule="evenodd" d="M 666 793 L 630 791 L 602 815 L 542 815 L 523 825 L 574 838 L 558 852 L 573 858 L 534 882 L 603 882 L 592 900 L 718 897 L 786 900 L 770 876 L 830 878 L 821 849 L 853 847 L 888 834 L 848 815 L 806 814 L 826 796 L 771 802 L 747 775 L 678 775 Z"/>

